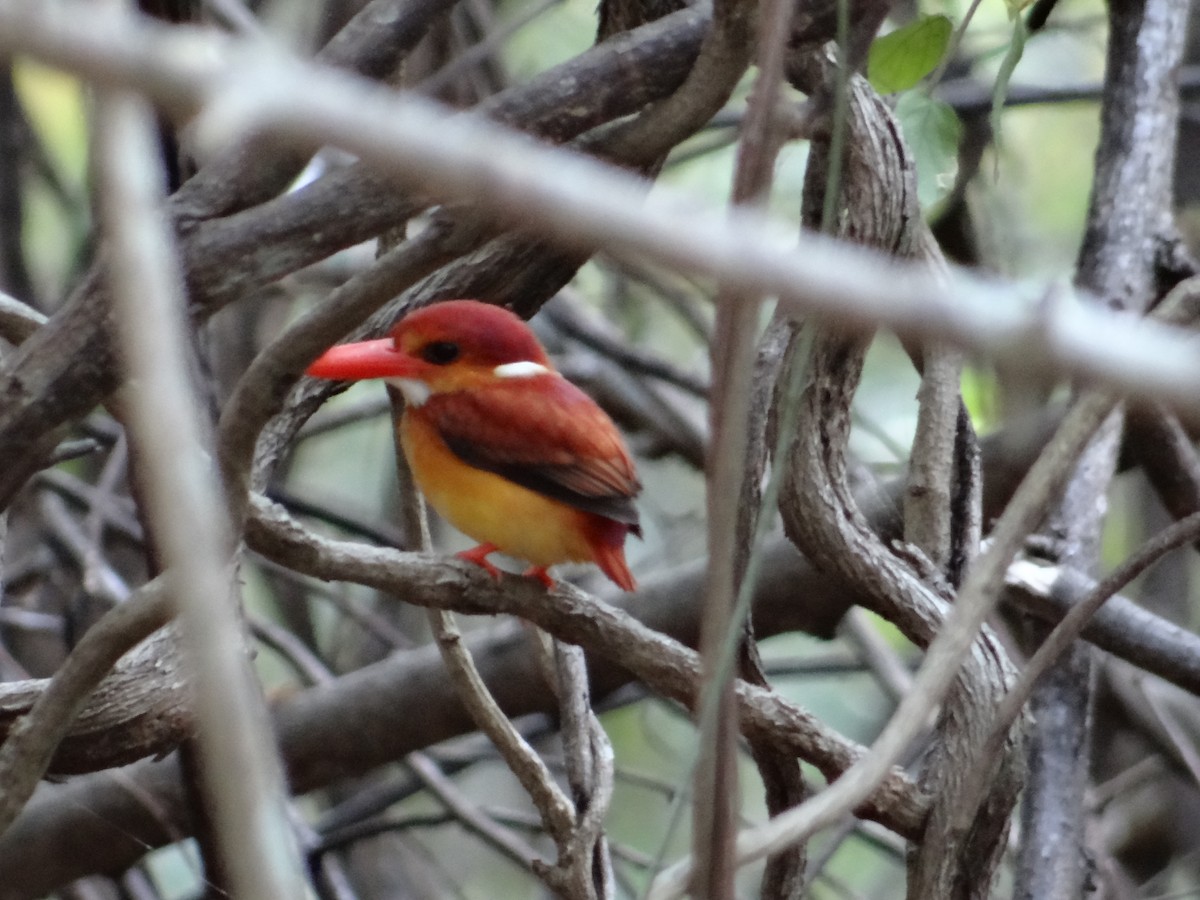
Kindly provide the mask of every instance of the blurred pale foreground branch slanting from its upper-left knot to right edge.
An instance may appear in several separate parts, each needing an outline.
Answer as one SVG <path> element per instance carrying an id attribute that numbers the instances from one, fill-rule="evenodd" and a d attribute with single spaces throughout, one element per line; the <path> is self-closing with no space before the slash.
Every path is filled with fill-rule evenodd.
<path id="1" fill-rule="evenodd" d="M 0 19 L 2 22 L 2 19 Z M 780 295 L 785 308 L 841 328 L 884 325 L 944 340 L 1026 370 L 1054 370 L 1196 413 L 1200 361 L 1189 338 L 1055 296 L 1014 302 L 1014 292 L 961 271 L 941 283 L 923 266 L 805 234 L 799 246 L 762 216 L 707 210 L 599 162 L 540 146 L 436 104 L 352 91 L 298 71 L 302 95 L 222 95 L 210 138 L 241 127 L 338 144 L 400 180 L 475 203 L 566 246 L 605 246 L 710 275 L 731 288 Z M 251 80 L 257 80 L 251 78 Z M 288 80 L 293 80 L 289 77 Z M 352 100 L 353 97 L 353 100 Z M 1121 341 L 1112 341 L 1120 334 Z"/>

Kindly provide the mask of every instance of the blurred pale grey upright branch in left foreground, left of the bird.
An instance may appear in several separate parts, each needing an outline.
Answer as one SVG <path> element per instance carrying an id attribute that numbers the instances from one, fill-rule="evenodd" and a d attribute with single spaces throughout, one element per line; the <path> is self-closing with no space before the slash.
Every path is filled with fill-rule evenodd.
<path id="1" fill-rule="evenodd" d="M 154 119 L 131 95 L 104 96 L 98 109 L 100 212 L 112 242 L 112 292 L 131 378 L 122 401 L 154 545 L 180 612 L 202 786 L 233 892 L 295 898 L 304 892 L 302 868 L 262 691 L 242 650 L 229 523 L 185 370 L 184 295 L 162 215 Z"/>

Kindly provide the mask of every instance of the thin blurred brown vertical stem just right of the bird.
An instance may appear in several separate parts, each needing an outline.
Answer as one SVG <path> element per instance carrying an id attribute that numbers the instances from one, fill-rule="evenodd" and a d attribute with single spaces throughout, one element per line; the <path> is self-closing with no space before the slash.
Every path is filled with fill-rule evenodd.
<path id="1" fill-rule="evenodd" d="M 732 203 L 762 208 L 770 196 L 778 142 L 773 134 L 776 97 L 782 83 L 784 43 L 791 7 L 775 2 L 767 14 L 774 32 L 758 30 L 760 64 L 749 103 L 749 115 L 738 145 Z M 751 30 L 755 7 L 739 0 L 715 5 L 713 30 L 701 50 L 689 80 L 672 96 L 680 97 L 689 88 L 697 92 L 704 78 L 720 78 L 724 72 L 740 78 L 750 61 Z M 766 10 L 764 10 L 766 12 Z M 786 13 L 786 18 L 784 16 Z M 718 26 L 720 25 L 720 28 Z M 763 40 L 764 38 L 764 40 Z M 767 64 L 766 55 L 770 62 Z M 701 65 L 708 64 L 702 71 Z M 736 74 L 734 74 L 736 72 Z M 716 110 L 710 110 L 715 113 Z M 634 133 L 642 122 L 634 122 Z M 629 136 L 626 136 L 629 137 Z M 644 140 L 644 138 L 635 138 Z M 745 617 L 749 605 L 739 606 L 739 596 L 749 596 L 745 586 L 746 560 L 754 542 L 758 510 L 742 503 L 760 498 L 748 492 L 746 458 L 750 446 L 750 408 L 754 376 L 755 335 L 763 299 L 722 286 L 715 298 L 716 314 L 709 359 L 713 366 L 713 391 L 708 404 L 712 444 L 704 466 L 704 503 L 707 516 L 708 569 L 704 578 L 701 616 L 700 653 L 704 670 L 704 702 L 697 722 L 698 751 L 692 773 L 694 796 L 703 798 L 691 808 L 692 854 L 708 860 L 697 869 L 691 884 L 700 898 L 725 898 L 733 894 L 737 866 L 733 840 L 738 821 L 737 730 L 733 707 L 734 660 L 738 646 L 751 641 Z M 749 476 L 752 480 L 752 474 Z M 758 748 L 756 757 L 768 754 Z M 786 772 L 776 762 L 763 769 L 766 775 Z M 796 781 L 793 775 L 791 781 Z M 767 782 L 769 791 L 779 786 Z M 792 854 L 796 856 L 796 854 Z M 784 863 L 800 869 L 797 859 Z"/>

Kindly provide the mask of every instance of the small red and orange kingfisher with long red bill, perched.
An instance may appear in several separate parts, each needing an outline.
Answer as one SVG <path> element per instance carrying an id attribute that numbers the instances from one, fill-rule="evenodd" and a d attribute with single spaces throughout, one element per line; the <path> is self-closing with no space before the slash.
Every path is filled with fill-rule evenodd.
<path id="1" fill-rule="evenodd" d="M 499 551 L 547 589 L 550 566 L 594 563 L 636 588 L 625 539 L 642 535 L 642 484 L 629 449 L 516 313 L 445 300 L 401 317 L 385 338 L 330 348 L 307 374 L 401 391 L 400 444 L 416 486 L 479 542 L 460 558 L 499 577 L 487 559 Z"/>

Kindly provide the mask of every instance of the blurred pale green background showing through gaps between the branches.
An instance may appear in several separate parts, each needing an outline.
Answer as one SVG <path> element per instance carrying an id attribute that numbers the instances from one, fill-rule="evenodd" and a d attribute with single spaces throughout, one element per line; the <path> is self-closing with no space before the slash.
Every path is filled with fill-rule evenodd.
<path id="1" fill-rule="evenodd" d="M 324 2 L 143 4 L 168 20 L 203 22 L 311 53 L 361 6 Z M 149 8 L 163 7 L 163 8 Z M 918 161 L 920 198 L 948 256 L 1015 281 L 1069 281 L 1087 211 L 1099 128 L 1105 11 L 1098 0 L 1038 0 L 1016 8 L 1001 0 L 901 1 L 884 32 L 944 17 L 953 31 L 937 38 L 937 71 L 895 91 L 898 115 Z M 941 20 L 941 19 L 938 19 Z M 1028 28 L 1010 80 L 1014 23 Z M 404 66 L 404 88 L 469 107 L 589 48 L 595 0 L 464 0 L 443 17 Z M 1189 59 L 1200 46 L 1192 41 Z M 907 53 L 908 50 L 904 50 Z M 887 77 L 887 62 L 877 64 Z M 870 72 L 872 79 L 880 74 Z M 734 172 L 737 126 L 754 71 L 713 122 L 679 145 L 660 182 L 724 204 Z M 935 80 L 936 78 L 936 80 Z M 1195 222 L 1200 157 L 1195 90 L 1200 68 L 1183 71 L 1184 121 L 1177 206 Z M 802 104 L 804 97 L 788 94 Z M 994 109 L 995 106 L 995 109 Z M 53 314 L 96 253 L 90 156 L 90 98 L 71 76 L 28 59 L 0 70 L 0 290 Z M 174 184 L 193 169 L 186 128 L 164 122 L 163 158 Z M 806 143 L 788 143 L 775 172 L 770 211 L 794 226 L 799 217 Z M 323 151 L 299 179 L 349 164 Z M 420 227 L 420 222 L 415 223 Z M 197 332 L 198 383 L 214 415 L 250 360 L 288 322 L 376 257 L 376 242 L 352 247 L 230 304 Z M 556 365 L 586 388 L 623 427 L 646 485 L 644 541 L 630 546 L 640 580 L 653 581 L 696 560 L 704 548 L 703 455 L 714 286 L 656 265 L 599 256 L 551 300 L 533 325 Z M 1030 385 L 986 365 L 968 368 L 964 392 L 982 434 L 1028 413 Z M 1004 376 L 1001 378 L 1000 376 Z M 917 373 L 889 335 L 872 344 L 854 408 L 853 449 L 870 476 L 900 474 L 916 420 Z M 1039 385 L 1038 404 L 1061 395 Z M 86 628 L 131 586 L 146 577 L 140 526 L 126 484 L 127 449 L 120 426 L 102 408 L 64 437 L 59 461 L 43 469 L 10 512 L 5 593 L 0 602 L 0 674 L 6 680 L 54 672 Z M 301 432 L 271 496 L 328 534 L 402 546 L 390 404 L 378 384 L 338 395 Z M 1105 536 L 1110 563 L 1122 559 L 1168 521 L 1140 476 L 1117 484 Z M 467 546 L 432 522 L 436 547 Z M 1184 628 L 1196 625 L 1194 568 L 1181 551 L 1130 593 Z M 564 571 L 589 590 L 599 576 Z M 314 668 L 334 678 L 394 652 L 427 642 L 420 611 L 366 588 L 317 584 L 248 554 L 242 569 L 247 618 L 257 640 L 256 665 L 269 697 L 313 683 Z M 474 631 L 502 629 L 472 620 Z M 870 743 L 904 685 L 888 684 L 878 654 L 911 671 L 917 654 L 894 629 L 863 614 L 844 622 L 833 640 L 792 632 L 762 644 L 779 690 L 847 738 Z M 1138 728 L 1123 719 L 1115 694 L 1098 715 L 1138 748 Z M 629 685 L 605 698 L 601 721 L 612 740 L 617 788 L 608 818 L 622 896 L 638 896 L 648 874 L 689 846 L 688 769 L 695 731 L 672 703 Z M 553 763 L 556 724 L 528 716 L 522 730 Z M 1120 726 L 1120 728 L 1118 728 Z M 1122 728 L 1132 728 L 1129 733 Z M 353 740 L 348 734 L 347 740 Z M 467 736 L 427 751 L 464 796 L 488 816 L 523 832 L 535 828 L 520 786 L 490 745 Z M 1100 752 L 1098 839 L 1122 860 L 1130 896 L 1200 896 L 1200 812 L 1195 786 L 1177 787 L 1170 754 L 1138 749 Z M 1138 758 L 1140 757 L 1140 758 Z M 1164 761 L 1165 760 L 1165 761 Z M 742 767 L 742 817 L 764 817 L 755 766 Z M 1108 779 L 1127 779 L 1114 786 Z M 820 784 L 820 776 L 814 775 Z M 1104 794 L 1111 788 L 1111 794 Z M 1104 794 L 1104 796 L 1102 796 Z M 1176 802 L 1177 800 L 1177 802 Z M 413 778 L 404 761 L 344 779 L 296 800 L 310 835 L 314 870 L 336 860 L 347 896 L 535 898 L 536 880 L 467 834 L 445 804 Z M 529 834 L 530 840 L 536 836 Z M 150 850 L 150 847 L 148 847 Z M 808 896 L 900 896 L 904 844 L 857 820 L 832 829 L 810 848 Z M 739 880 L 756 893 L 761 871 Z M 2 880 L 2 875 L 0 875 Z M 205 894 L 194 842 L 152 850 L 133 870 L 90 877 L 62 896 L 193 898 Z M 328 895 L 338 896 L 331 888 Z"/>

